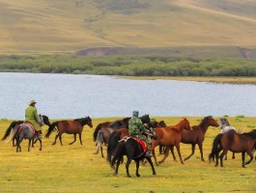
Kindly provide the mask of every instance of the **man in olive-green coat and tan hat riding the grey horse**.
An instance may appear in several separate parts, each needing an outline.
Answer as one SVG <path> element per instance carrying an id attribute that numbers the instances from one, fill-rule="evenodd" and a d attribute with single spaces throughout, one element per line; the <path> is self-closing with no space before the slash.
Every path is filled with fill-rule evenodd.
<path id="1" fill-rule="evenodd" d="M 37 102 L 34 99 L 29 102 L 29 106 L 26 108 L 25 111 L 25 123 L 28 122 L 30 124 L 33 124 L 37 131 L 37 139 L 41 139 L 42 127 L 40 125 L 41 121 L 38 115 L 37 108 L 35 107 L 36 103 Z"/>

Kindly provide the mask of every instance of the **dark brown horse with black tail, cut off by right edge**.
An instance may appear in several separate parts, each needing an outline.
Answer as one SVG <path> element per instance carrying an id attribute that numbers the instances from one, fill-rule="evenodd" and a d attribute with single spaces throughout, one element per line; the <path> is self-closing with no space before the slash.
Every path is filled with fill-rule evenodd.
<path id="1" fill-rule="evenodd" d="M 209 161 L 215 157 L 215 167 L 218 165 L 220 158 L 220 166 L 223 167 L 223 157 L 228 152 L 242 152 L 242 167 L 249 164 L 253 159 L 253 151 L 256 143 L 256 129 L 247 133 L 236 133 L 234 131 L 219 133 L 213 140 L 212 152 L 209 154 Z M 223 152 L 219 156 L 219 152 Z M 250 156 L 250 159 L 244 163 L 245 152 Z"/>

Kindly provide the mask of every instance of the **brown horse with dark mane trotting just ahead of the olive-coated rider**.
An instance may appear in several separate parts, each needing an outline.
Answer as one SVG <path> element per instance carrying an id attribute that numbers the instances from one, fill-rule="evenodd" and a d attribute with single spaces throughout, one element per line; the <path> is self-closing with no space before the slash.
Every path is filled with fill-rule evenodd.
<path id="1" fill-rule="evenodd" d="M 63 133 L 73 134 L 73 141 L 70 143 L 70 145 L 72 145 L 76 141 L 76 134 L 78 133 L 80 144 L 82 145 L 81 133 L 83 130 L 83 126 L 85 124 L 88 124 L 91 128 L 93 127 L 92 119 L 89 116 L 85 118 L 75 119 L 75 120 L 63 120 L 63 121 L 54 122 L 50 124 L 50 126 L 48 127 L 48 131 L 45 134 L 45 137 L 48 138 L 52 130 L 57 127 L 58 134 L 55 136 L 55 141 L 52 143 L 52 145 L 55 145 L 56 140 L 59 138 L 60 143 L 63 146 L 62 144 Z"/>

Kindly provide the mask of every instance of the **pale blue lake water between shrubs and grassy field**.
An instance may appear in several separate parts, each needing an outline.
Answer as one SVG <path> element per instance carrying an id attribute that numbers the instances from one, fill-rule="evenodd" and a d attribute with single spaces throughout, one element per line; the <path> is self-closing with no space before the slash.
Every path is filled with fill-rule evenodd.
<path id="1" fill-rule="evenodd" d="M 31 99 L 49 119 L 90 116 L 256 116 L 256 87 L 114 76 L 0 73 L 0 119 L 24 119 Z"/>

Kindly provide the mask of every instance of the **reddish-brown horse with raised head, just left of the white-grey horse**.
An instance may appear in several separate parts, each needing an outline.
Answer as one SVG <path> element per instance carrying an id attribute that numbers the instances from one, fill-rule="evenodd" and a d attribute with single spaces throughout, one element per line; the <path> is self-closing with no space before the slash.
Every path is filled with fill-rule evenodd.
<path id="1" fill-rule="evenodd" d="M 203 156 L 203 142 L 205 140 L 205 134 L 209 126 L 218 127 L 219 124 L 213 119 L 213 116 L 205 117 L 199 125 L 193 125 L 192 130 L 183 129 L 182 131 L 182 143 L 191 144 L 192 152 L 185 157 L 184 160 L 189 159 L 195 151 L 195 145 L 197 144 L 201 154 L 201 160 L 205 161 Z M 174 152 L 172 151 L 173 158 L 176 160 Z"/>

